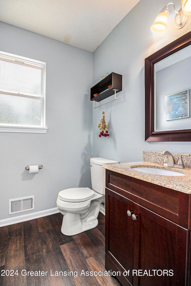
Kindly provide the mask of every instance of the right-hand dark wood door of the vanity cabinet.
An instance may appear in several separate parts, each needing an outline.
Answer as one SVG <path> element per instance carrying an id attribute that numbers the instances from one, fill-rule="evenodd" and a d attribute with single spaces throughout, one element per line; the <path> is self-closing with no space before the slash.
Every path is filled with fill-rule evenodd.
<path id="1" fill-rule="evenodd" d="M 133 269 L 147 271 L 135 273 L 133 286 L 187 285 L 190 231 L 135 203 L 133 213 Z"/>

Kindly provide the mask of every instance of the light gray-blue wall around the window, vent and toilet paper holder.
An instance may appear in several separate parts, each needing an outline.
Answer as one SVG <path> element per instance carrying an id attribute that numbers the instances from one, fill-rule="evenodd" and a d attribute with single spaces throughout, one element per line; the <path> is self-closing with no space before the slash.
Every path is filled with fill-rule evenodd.
<path id="1" fill-rule="evenodd" d="M 58 191 L 91 187 L 93 53 L 0 22 L 0 50 L 46 62 L 47 134 L 0 132 L 0 220 L 56 207 Z M 42 164 L 38 174 L 26 165 Z M 8 200 L 35 209 L 8 215 Z"/>

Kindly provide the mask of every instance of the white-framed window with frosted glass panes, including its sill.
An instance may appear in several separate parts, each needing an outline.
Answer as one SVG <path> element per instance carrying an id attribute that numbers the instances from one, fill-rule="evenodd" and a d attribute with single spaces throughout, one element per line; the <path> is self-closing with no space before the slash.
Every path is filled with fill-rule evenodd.
<path id="1" fill-rule="evenodd" d="M 0 132 L 46 133 L 44 62 L 0 52 Z"/>

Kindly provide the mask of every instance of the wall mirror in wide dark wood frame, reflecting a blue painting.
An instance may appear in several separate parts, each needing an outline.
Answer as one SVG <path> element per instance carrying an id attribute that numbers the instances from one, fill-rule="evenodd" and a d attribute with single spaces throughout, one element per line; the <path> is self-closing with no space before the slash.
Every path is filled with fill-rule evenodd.
<path id="1" fill-rule="evenodd" d="M 191 141 L 191 32 L 145 59 L 145 141 Z"/>

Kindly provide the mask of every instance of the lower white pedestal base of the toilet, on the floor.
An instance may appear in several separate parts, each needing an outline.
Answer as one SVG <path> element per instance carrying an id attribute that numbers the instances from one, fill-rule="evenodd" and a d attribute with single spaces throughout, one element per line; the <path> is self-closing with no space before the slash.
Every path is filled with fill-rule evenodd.
<path id="1" fill-rule="evenodd" d="M 61 233 L 64 235 L 76 235 L 83 231 L 90 230 L 98 225 L 98 220 L 81 222 L 79 214 L 67 213 L 62 221 Z"/>

